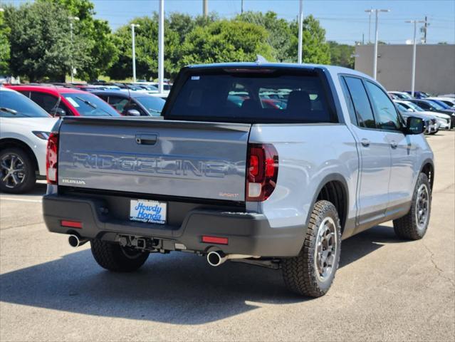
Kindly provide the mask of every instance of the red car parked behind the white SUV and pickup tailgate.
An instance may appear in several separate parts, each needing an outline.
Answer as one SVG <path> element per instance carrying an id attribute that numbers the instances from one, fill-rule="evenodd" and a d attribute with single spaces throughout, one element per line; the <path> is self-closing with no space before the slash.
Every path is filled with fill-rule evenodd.
<path id="1" fill-rule="evenodd" d="M 93 94 L 56 86 L 9 86 L 26 95 L 53 116 L 120 116 Z"/>

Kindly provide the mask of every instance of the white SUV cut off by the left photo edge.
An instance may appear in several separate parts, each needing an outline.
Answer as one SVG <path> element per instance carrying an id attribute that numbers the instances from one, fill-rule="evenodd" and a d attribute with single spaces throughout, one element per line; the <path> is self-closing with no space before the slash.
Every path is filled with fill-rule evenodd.
<path id="1" fill-rule="evenodd" d="M 56 120 L 26 96 L 0 87 L 1 192 L 28 192 L 46 176 L 48 133 Z"/>

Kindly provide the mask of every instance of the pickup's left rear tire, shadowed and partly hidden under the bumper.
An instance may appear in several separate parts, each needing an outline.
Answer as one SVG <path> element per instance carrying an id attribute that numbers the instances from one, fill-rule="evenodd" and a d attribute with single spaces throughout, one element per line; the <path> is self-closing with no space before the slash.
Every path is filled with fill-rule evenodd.
<path id="1" fill-rule="evenodd" d="M 100 239 L 90 240 L 90 246 L 96 262 L 109 271 L 136 271 L 149 257 L 148 252 L 121 247 L 120 244 L 113 244 Z"/>

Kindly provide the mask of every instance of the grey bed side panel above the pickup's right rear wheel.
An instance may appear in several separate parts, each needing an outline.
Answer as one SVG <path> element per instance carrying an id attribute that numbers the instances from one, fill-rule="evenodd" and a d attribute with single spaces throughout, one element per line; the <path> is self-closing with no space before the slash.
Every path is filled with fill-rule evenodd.
<path id="1" fill-rule="evenodd" d="M 355 217 L 359 156 L 346 125 L 253 125 L 249 142 L 271 143 L 278 151 L 275 191 L 265 202 L 247 202 L 247 209 L 266 214 L 271 227 L 303 226 L 318 190 L 331 177 L 345 181 L 347 218 Z"/>

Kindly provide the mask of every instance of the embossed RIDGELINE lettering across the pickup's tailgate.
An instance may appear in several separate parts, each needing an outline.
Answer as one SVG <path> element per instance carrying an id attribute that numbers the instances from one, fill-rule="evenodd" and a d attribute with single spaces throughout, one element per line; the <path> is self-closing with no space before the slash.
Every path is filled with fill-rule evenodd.
<path id="1" fill-rule="evenodd" d="M 87 153 L 73 154 L 73 167 L 92 170 L 157 173 L 162 175 L 222 178 L 236 170 L 231 170 L 229 162 L 174 159 L 165 157 L 130 157 L 97 155 Z"/>

